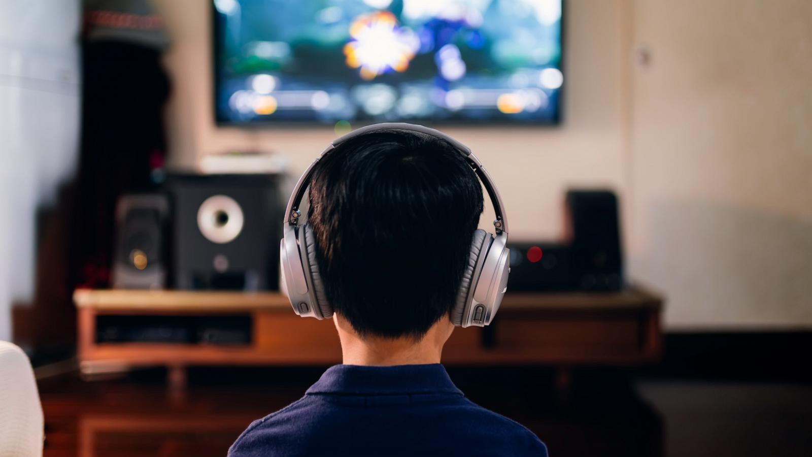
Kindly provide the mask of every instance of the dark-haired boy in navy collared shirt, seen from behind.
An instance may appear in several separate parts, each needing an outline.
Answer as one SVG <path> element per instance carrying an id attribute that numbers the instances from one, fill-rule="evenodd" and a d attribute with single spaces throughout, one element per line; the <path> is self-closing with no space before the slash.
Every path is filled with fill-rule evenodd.
<path id="1" fill-rule="evenodd" d="M 309 203 L 304 242 L 343 364 L 251 424 L 229 455 L 546 456 L 528 429 L 464 398 L 440 364 L 482 213 L 460 150 L 369 130 L 322 156 Z"/>

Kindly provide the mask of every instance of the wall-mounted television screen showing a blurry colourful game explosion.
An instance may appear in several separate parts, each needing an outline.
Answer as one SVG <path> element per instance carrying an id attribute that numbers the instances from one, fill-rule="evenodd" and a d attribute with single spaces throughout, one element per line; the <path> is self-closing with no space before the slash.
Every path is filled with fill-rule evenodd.
<path id="1" fill-rule="evenodd" d="M 559 120 L 562 0 L 214 0 L 219 123 Z"/>

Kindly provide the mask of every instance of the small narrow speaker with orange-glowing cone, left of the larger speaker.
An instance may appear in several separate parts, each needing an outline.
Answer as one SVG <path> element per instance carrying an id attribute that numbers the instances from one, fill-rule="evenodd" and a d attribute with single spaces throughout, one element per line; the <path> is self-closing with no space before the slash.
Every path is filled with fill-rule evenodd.
<path id="1" fill-rule="evenodd" d="M 169 202 L 163 194 L 127 194 L 115 208 L 113 287 L 166 286 L 166 226 Z"/>

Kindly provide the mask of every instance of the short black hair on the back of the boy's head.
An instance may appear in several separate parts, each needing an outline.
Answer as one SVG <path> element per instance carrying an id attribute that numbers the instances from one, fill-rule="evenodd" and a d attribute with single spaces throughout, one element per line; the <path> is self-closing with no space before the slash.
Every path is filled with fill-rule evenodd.
<path id="1" fill-rule="evenodd" d="M 482 214 L 454 146 L 401 130 L 352 138 L 318 164 L 309 202 L 326 298 L 361 337 L 419 339 L 451 311 Z"/>

